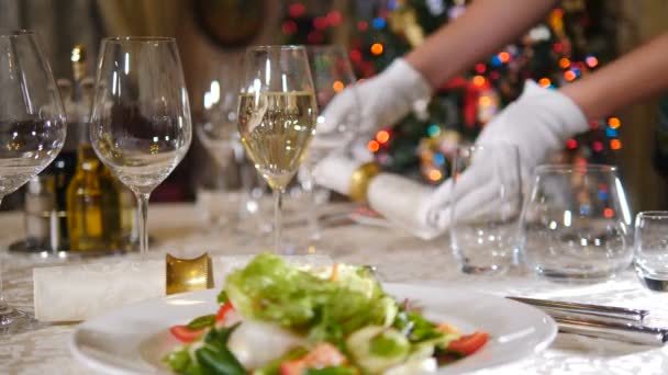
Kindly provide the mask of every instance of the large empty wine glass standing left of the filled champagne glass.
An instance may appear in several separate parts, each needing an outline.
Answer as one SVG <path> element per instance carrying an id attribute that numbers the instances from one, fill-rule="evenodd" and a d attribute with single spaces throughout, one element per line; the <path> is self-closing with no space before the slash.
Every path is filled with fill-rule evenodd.
<path id="1" fill-rule="evenodd" d="M 183 159 L 192 139 L 190 104 L 176 41 L 102 41 L 90 120 L 96 154 L 136 196 L 146 257 L 151 192 Z"/>

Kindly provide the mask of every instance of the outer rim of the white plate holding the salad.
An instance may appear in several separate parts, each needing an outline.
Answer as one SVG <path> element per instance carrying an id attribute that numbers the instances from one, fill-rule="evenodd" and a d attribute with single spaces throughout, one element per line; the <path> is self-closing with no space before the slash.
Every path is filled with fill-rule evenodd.
<path id="1" fill-rule="evenodd" d="M 547 348 L 549 348 L 558 333 L 558 326 L 556 323 L 556 321 L 549 316 L 547 315 L 545 311 L 534 307 L 534 306 L 530 306 L 526 304 L 522 304 L 519 303 L 516 300 L 512 300 L 509 298 L 504 298 L 494 294 L 487 294 L 487 293 L 482 293 L 482 292 L 478 292 L 478 291 L 474 291 L 474 289 L 467 289 L 466 287 L 464 288 L 457 288 L 454 286 L 438 286 L 438 285 L 430 285 L 430 284 L 421 284 L 421 283 L 381 283 L 383 291 L 388 292 L 389 294 L 391 294 L 392 288 L 417 288 L 417 289 L 422 289 L 422 291 L 438 291 L 439 293 L 446 292 L 446 291 L 457 291 L 457 293 L 461 294 L 464 291 L 466 291 L 466 293 L 470 296 L 481 296 L 485 298 L 490 298 L 492 300 L 498 300 L 498 302 L 502 302 L 503 304 L 508 304 L 510 306 L 514 306 L 515 308 L 522 308 L 528 311 L 533 311 L 533 314 L 536 314 L 537 316 L 539 316 L 541 318 L 546 320 L 546 325 L 545 327 L 548 329 L 548 331 L 546 332 L 546 336 L 541 340 L 541 342 L 538 344 L 536 344 L 533 350 L 531 350 L 531 354 L 536 354 L 539 353 L 544 350 L 546 350 Z M 108 319 L 107 317 L 113 314 L 119 314 L 120 310 L 125 310 L 125 309 L 132 309 L 132 308 L 136 308 L 140 305 L 144 305 L 144 304 L 154 304 L 157 302 L 163 302 L 167 298 L 170 297 L 188 297 L 188 296 L 193 296 L 193 295 L 207 295 L 207 294 L 211 294 L 211 295 L 215 295 L 218 293 L 218 288 L 210 288 L 210 289 L 203 289 L 203 291 L 196 291 L 196 292 L 188 292 L 188 293 L 181 293 L 181 294 L 174 294 L 174 295 L 165 295 L 165 296 L 160 296 L 160 297 L 152 297 L 152 298 L 147 298 L 147 299 L 143 299 L 143 300 L 138 300 L 132 304 L 127 304 L 127 305 L 122 305 L 119 306 L 118 308 L 114 308 L 112 310 L 107 311 L 103 315 L 99 315 L 92 318 L 89 318 L 80 323 L 78 323 L 75 328 L 75 331 L 71 332 L 71 334 L 69 336 L 69 340 L 68 340 L 68 349 L 69 352 L 71 353 L 71 355 L 75 357 L 75 360 L 84 365 L 87 366 L 88 368 L 94 370 L 94 371 L 99 371 L 105 374 L 119 374 L 119 375 L 134 375 L 134 374 L 140 374 L 136 371 L 131 371 L 131 370 L 126 370 L 126 368 L 122 368 L 119 367 L 116 365 L 114 365 L 113 363 L 109 363 L 109 362 L 104 362 L 102 360 L 99 360 L 96 356 L 91 356 L 91 355 L 87 355 L 85 353 L 85 351 L 82 350 L 82 348 L 79 348 L 80 345 L 78 344 L 77 338 L 78 338 L 78 333 L 81 331 L 81 329 L 86 328 L 87 325 L 92 325 L 96 321 L 99 320 L 104 320 Z M 527 357 L 530 355 L 528 352 L 524 352 L 521 351 L 519 352 L 517 355 L 512 355 L 510 357 L 506 357 L 506 360 L 498 362 L 498 363 L 491 363 L 485 367 L 481 368 L 474 368 L 474 370 L 464 370 L 464 371 L 482 371 L 482 370 L 491 370 L 491 368 L 496 368 L 499 366 L 504 366 L 504 365 L 509 365 L 511 363 L 515 363 L 519 362 L 525 357 Z M 435 374 L 449 374 L 452 372 L 447 371 L 447 366 L 446 367 L 442 367 L 441 371 L 436 372 Z M 456 368 L 453 368 L 453 371 L 455 371 Z M 155 374 L 163 374 L 163 372 L 160 372 L 159 368 L 154 368 L 154 373 Z"/>

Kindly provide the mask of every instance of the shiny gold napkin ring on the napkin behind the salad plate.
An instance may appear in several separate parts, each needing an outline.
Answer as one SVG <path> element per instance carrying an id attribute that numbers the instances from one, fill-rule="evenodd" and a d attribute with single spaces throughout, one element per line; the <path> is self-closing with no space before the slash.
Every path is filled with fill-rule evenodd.
<path id="1" fill-rule="evenodd" d="M 167 254 L 166 293 L 185 293 L 213 287 L 213 270 L 208 253 L 193 259 L 179 259 Z"/>

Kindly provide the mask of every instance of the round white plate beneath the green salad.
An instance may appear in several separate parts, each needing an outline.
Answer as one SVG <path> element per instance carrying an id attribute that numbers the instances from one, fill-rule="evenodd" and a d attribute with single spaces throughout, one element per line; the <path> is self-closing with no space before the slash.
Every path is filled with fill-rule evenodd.
<path id="1" fill-rule="evenodd" d="M 425 307 L 432 319 L 447 321 L 463 332 L 487 331 L 487 345 L 438 374 L 487 368 L 532 355 L 547 348 L 557 334 L 552 318 L 533 307 L 501 297 L 455 288 L 385 284 L 398 298 Z M 160 357 L 178 342 L 168 328 L 213 314 L 218 291 L 209 289 L 147 299 L 81 323 L 70 341 L 74 356 L 108 374 L 168 373 Z"/>

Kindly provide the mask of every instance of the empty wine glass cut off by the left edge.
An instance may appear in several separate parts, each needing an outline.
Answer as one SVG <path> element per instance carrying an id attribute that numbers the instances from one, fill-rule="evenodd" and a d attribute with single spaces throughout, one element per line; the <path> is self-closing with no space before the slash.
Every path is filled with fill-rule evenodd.
<path id="1" fill-rule="evenodd" d="M 0 32 L 0 201 L 40 173 L 65 143 L 65 111 L 37 35 Z M 0 327 L 26 317 L 2 297 Z"/>

